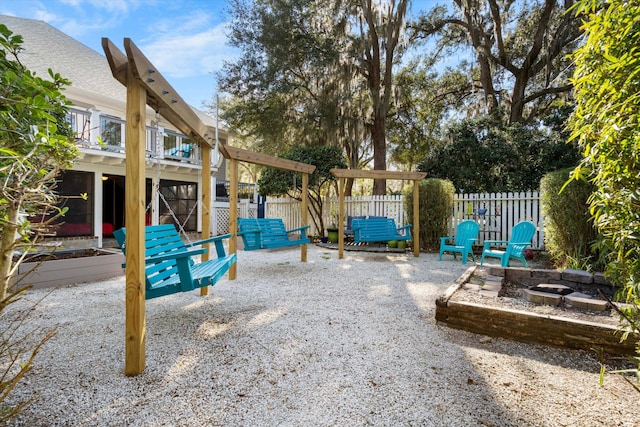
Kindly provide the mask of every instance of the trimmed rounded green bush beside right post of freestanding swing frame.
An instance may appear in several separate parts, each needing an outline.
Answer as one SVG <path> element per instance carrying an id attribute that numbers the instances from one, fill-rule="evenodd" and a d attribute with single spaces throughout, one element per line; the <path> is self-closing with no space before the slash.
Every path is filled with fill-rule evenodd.
<path id="1" fill-rule="evenodd" d="M 420 249 L 434 249 L 440 244 L 440 237 L 449 233 L 448 221 L 453 209 L 455 187 L 451 181 L 428 178 L 420 181 L 419 220 Z M 413 188 L 405 192 L 405 209 L 413 218 Z"/>

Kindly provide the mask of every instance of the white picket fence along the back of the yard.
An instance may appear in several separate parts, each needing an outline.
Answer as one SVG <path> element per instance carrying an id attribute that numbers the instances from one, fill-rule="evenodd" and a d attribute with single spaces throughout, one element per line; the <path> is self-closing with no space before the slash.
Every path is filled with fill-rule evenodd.
<path id="1" fill-rule="evenodd" d="M 214 227 L 217 234 L 228 232 L 229 208 L 228 203 L 216 202 L 214 206 Z M 323 206 L 323 220 L 325 227 L 337 222 L 339 201 L 337 198 L 325 200 Z M 239 204 L 241 217 L 257 216 L 255 204 L 243 201 Z M 398 226 L 407 224 L 403 196 L 358 196 L 345 198 L 345 217 L 356 215 L 386 216 L 394 218 Z M 282 218 L 287 229 L 301 227 L 301 202 L 290 198 L 268 198 L 265 206 L 265 216 L 268 218 Z M 531 221 L 537 231 L 533 237 L 531 247 L 544 249 L 544 218 L 540 211 L 540 195 L 537 191 L 520 193 L 476 193 L 456 194 L 454 207 L 449 220 L 449 235 L 455 235 L 456 226 L 466 219 L 472 219 L 480 224 L 478 245 L 485 240 L 509 240 L 511 229 L 520 221 Z M 310 219 L 309 235 L 317 236 L 317 230 Z M 344 225 L 343 225 L 344 226 Z"/>

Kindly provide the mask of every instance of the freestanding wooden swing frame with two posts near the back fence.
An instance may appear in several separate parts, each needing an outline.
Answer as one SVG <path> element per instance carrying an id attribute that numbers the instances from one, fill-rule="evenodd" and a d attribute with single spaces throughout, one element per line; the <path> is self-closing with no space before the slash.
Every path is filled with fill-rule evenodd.
<path id="1" fill-rule="evenodd" d="M 344 189 L 347 178 L 366 179 L 400 179 L 413 181 L 413 255 L 420 256 L 420 221 L 418 213 L 418 201 L 420 191 L 418 184 L 427 176 L 426 172 L 401 172 L 401 171 L 380 171 L 380 170 L 360 170 L 360 169 L 331 169 L 331 174 L 340 180 L 340 207 L 338 213 L 338 224 L 344 224 Z M 338 258 L 344 256 L 344 227 L 338 228 Z"/>

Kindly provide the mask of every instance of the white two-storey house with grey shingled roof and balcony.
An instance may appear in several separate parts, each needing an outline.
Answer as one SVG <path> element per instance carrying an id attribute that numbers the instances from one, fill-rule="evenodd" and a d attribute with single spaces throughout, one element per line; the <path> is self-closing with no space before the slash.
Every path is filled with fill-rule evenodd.
<path id="1" fill-rule="evenodd" d="M 72 82 L 64 92 L 72 103 L 67 120 L 81 156 L 60 176 L 58 191 L 88 197 L 65 199 L 69 211 L 56 239 L 89 240 L 87 246 L 102 247 L 104 238 L 126 225 L 126 88 L 113 78 L 104 55 L 46 22 L 0 15 L 0 23 L 23 37 L 20 60 L 27 68 L 41 77 L 51 68 Z M 216 120 L 191 108 L 215 135 Z M 146 222 L 173 222 L 186 232 L 201 231 L 203 209 L 210 207 L 199 203 L 206 177 L 198 145 L 150 108 L 146 133 Z M 222 129 L 218 135 L 222 143 L 230 138 Z M 220 188 L 216 183 L 224 185 L 225 162 L 219 152 L 212 157 L 211 185 Z"/>

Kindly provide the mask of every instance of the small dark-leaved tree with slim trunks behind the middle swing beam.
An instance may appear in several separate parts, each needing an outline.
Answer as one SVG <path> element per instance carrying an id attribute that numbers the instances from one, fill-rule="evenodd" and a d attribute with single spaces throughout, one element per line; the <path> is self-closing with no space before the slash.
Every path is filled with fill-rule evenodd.
<path id="1" fill-rule="evenodd" d="M 281 157 L 316 166 L 316 170 L 309 176 L 309 213 L 316 229 L 324 235 L 323 199 L 328 194 L 327 187 L 336 181 L 331 169 L 347 167 L 342 150 L 328 146 L 296 147 Z M 258 180 L 258 188 L 262 195 L 287 195 L 301 200 L 302 177 L 291 171 L 267 168 Z"/>

